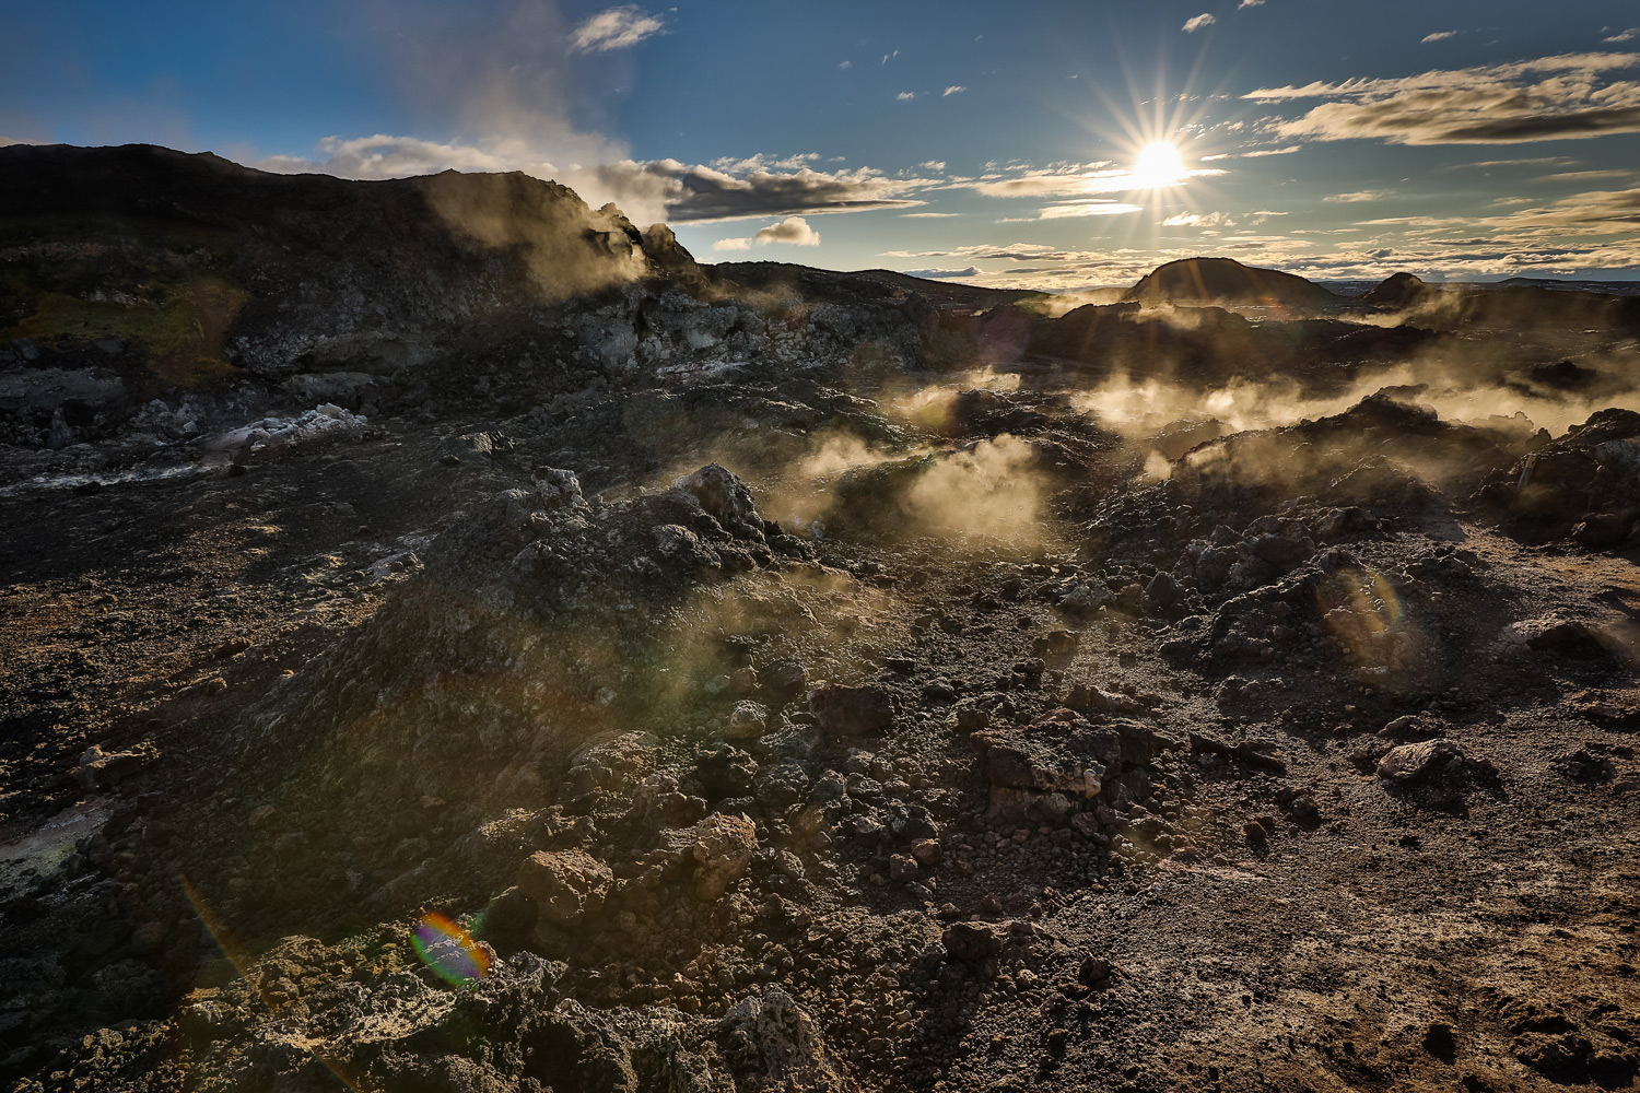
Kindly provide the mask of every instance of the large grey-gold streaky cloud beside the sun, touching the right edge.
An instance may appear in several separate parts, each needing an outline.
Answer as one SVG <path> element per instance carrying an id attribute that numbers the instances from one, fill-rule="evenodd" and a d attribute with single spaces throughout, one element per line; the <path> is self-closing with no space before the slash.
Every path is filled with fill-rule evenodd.
<path id="1" fill-rule="evenodd" d="M 1389 144 L 1517 144 L 1640 133 L 1640 82 L 1606 80 L 1640 54 L 1586 52 L 1473 69 L 1342 84 L 1266 87 L 1243 98 L 1323 98 L 1309 113 L 1271 121 L 1286 138 L 1379 139 Z"/>

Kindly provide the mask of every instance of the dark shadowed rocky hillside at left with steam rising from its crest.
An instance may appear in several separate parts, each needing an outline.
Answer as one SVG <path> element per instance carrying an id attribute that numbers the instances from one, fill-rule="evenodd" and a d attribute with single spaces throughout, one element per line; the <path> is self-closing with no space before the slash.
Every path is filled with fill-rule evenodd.
<path id="1" fill-rule="evenodd" d="M 51 300 L 75 295 L 85 259 L 103 274 L 123 261 L 134 267 L 128 306 L 174 308 L 205 328 L 202 344 L 171 356 L 267 377 L 417 364 L 543 303 L 694 272 L 664 228 L 648 236 L 651 261 L 613 205 L 592 210 L 520 172 L 353 182 L 148 144 L 0 149 L 0 229 L 20 223 L 57 244 L 26 256 Z M 162 298 L 138 283 L 153 267 L 172 287 Z M 38 293 L 25 295 L 8 310 L 34 311 L 30 333 L 57 334 Z"/>

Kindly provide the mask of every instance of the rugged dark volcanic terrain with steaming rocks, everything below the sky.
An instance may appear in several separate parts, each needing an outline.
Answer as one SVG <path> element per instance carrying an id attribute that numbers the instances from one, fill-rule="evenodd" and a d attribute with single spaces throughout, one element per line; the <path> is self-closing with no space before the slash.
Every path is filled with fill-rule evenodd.
<path id="1" fill-rule="evenodd" d="M 15 1088 L 1635 1083 L 1629 300 L 0 190 Z"/>

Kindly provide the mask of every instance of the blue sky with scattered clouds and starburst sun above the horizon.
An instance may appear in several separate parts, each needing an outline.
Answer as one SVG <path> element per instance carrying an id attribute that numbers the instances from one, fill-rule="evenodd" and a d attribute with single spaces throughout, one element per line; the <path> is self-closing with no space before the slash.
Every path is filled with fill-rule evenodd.
<path id="1" fill-rule="evenodd" d="M 0 0 L 0 33 L 5 139 L 523 169 L 704 261 L 1640 267 L 1632 2 Z"/>

